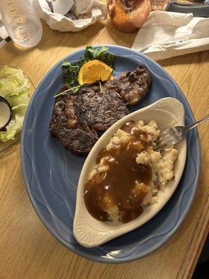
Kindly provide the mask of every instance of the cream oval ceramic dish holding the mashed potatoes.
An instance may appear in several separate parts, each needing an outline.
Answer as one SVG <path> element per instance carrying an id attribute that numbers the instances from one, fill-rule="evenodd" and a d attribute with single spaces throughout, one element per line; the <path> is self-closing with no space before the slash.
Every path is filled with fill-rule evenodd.
<path id="1" fill-rule="evenodd" d="M 93 146 L 93 149 L 88 154 L 84 166 L 82 168 L 81 175 L 79 177 L 79 183 L 77 188 L 77 201 L 75 209 L 75 218 L 73 223 L 73 233 L 75 239 L 85 247 L 100 246 L 111 239 L 121 236 L 127 232 L 136 229 L 137 227 L 146 223 L 150 218 L 153 218 L 157 212 L 168 202 L 171 195 L 176 190 L 180 177 L 183 174 L 185 167 L 185 160 L 187 156 L 187 143 L 183 140 L 178 144 L 178 160 L 175 163 L 174 173 L 175 177 L 172 181 L 169 181 L 167 188 L 164 192 L 160 191 L 157 195 L 159 202 L 150 206 L 146 206 L 144 212 L 137 219 L 132 220 L 130 223 L 114 223 L 114 222 L 100 222 L 93 218 L 87 211 L 84 204 L 84 183 L 88 179 L 88 176 L 95 166 L 95 158 L 102 149 L 106 147 L 111 137 L 116 130 L 120 128 L 123 123 L 130 120 L 144 120 L 150 121 L 154 119 L 160 130 L 166 130 L 169 126 L 173 125 L 185 125 L 185 110 L 183 104 L 175 98 L 162 98 L 157 102 L 147 107 L 142 108 L 136 112 L 132 112 L 123 119 L 114 123 L 100 137 L 98 142 Z"/>

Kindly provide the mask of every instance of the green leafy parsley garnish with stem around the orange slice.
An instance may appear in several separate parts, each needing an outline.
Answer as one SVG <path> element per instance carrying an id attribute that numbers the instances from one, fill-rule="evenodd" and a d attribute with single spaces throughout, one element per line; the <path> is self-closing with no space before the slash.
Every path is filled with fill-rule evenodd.
<path id="1" fill-rule="evenodd" d="M 103 46 L 101 48 L 98 47 L 93 48 L 91 45 L 88 45 L 86 46 L 84 55 L 77 63 L 72 65 L 70 61 L 63 61 L 62 63 L 62 69 L 64 72 L 63 82 L 65 84 L 73 85 L 73 87 L 61 93 L 56 94 L 56 96 L 54 97 L 64 95 L 68 91 L 72 91 L 73 93 L 76 93 L 79 90 L 81 86 L 78 85 L 77 82 L 78 73 L 80 68 L 82 68 L 82 66 L 88 61 L 97 59 L 103 61 L 111 68 L 114 68 L 113 64 L 116 56 L 114 54 L 108 53 L 107 50 L 109 50 L 109 47 L 107 46 Z"/>

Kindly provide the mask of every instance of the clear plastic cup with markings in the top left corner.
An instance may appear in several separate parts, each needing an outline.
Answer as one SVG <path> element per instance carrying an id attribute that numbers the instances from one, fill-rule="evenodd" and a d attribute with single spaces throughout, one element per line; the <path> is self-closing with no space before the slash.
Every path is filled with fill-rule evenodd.
<path id="1" fill-rule="evenodd" d="M 22 47 L 33 47 L 42 38 L 42 25 L 33 0 L 0 0 L 1 20 L 12 40 Z"/>

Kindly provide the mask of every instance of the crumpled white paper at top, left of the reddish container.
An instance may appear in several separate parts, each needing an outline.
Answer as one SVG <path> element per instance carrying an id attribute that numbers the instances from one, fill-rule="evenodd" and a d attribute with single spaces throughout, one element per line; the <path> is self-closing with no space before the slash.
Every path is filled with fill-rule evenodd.
<path id="1" fill-rule="evenodd" d="M 70 18 L 65 17 L 65 15 L 52 13 L 45 0 L 36 0 L 35 4 L 39 17 L 45 20 L 50 28 L 59 31 L 76 32 L 94 24 L 99 19 L 104 20 L 107 18 L 107 6 L 104 3 L 99 0 L 86 0 L 85 2 L 87 3 L 87 6 L 85 7 L 86 9 L 80 11 L 78 3 L 77 10 L 79 10 L 82 15 L 88 15 L 90 13 L 91 17 L 82 20 L 71 20 Z"/>

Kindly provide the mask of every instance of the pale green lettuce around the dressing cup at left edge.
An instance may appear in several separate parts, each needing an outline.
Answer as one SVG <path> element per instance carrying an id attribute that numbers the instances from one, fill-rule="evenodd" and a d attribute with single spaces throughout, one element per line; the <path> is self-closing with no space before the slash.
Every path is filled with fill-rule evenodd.
<path id="1" fill-rule="evenodd" d="M 0 140 L 14 140 L 20 132 L 26 107 L 29 104 L 30 83 L 21 69 L 3 66 L 0 70 L 0 96 L 6 98 L 12 107 L 12 119 L 6 131 L 0 131 Z"/>

